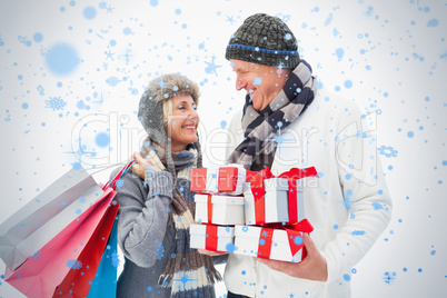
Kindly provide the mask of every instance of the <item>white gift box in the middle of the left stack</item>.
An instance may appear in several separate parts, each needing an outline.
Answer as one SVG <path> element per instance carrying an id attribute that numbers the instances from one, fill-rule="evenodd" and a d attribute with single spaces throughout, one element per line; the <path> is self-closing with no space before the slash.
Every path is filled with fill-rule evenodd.
<path id="1" fill-rule="evenodd" d="M 211 209 L 208 210 L 209 200 Z M 200 195 L 196 193 L 196 221 L 201 224 L 213 225 L 244 225 L 244 197 L 217 196 L 217 195 Z M 211 221 L 209 213 L 211 212 Z"/>

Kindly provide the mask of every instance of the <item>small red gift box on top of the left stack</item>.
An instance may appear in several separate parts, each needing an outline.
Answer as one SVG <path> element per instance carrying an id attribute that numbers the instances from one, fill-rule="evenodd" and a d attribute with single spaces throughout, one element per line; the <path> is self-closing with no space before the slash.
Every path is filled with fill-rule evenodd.
<path id="1" fill-rule="evenodd" d="M 254 171 L 235 163 L 217 168 L 193 168 L 191 169 L 191 190 L 205 193 L 241 195 L 244 183 L 250 181 L 254 175 Z"/>

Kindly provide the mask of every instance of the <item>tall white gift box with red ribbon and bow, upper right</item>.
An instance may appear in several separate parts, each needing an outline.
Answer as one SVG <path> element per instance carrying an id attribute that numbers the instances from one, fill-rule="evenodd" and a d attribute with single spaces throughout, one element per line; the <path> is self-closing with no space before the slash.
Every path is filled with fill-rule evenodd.
<path id="1" fill-rule="evenodd" d="M 275 177 L 267 167 L 245 183 L 246 225 L 295 224 L 305 219 L 302 178 L 315 177 L 314 167 L 292 168 Z"/>

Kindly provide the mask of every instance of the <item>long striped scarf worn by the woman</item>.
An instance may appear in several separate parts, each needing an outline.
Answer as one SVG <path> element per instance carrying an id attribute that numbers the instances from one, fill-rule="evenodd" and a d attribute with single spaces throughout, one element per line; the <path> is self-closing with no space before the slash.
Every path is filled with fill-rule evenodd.
<path id="1" fill-rule="evenodd" d="M 162 169 L 167 168 L 166 149 L 148 139 L 143 142 L 141 156 L 150 158 Z M 150 146 L 149 146 L 150 143 Z M 156 155 L 153 155 L 156 152 Z M 190 191 L 190 170 L 197 167 L 197 149 L 193 145 L 187 150 L 172 153 L 176 170 L 172 189 L 171 220 L 176 227 L 176 240 L 170 251 L 170 259 L 159 278 L 159 285 L 170 287 L 171 297 L 215 297 L 212 285 L 220 281 L 220 274 L 215 269 L 212 258 L 200 255 L 189 247 L 189 227 L 195 222 L 195 192 Z"/>

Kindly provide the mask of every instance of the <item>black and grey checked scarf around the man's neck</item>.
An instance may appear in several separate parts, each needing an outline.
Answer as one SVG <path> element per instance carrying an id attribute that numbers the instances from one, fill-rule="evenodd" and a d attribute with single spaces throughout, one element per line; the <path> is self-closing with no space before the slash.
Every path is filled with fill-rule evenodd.
<path id="1" fill-rule="evenodd" d="M 246 169 L 261 170 L 271 167 L 280 133 L 312 102 L 317 80 L 305 61 L 290 73 L 282 90 L 261 111 L 255 110 L 250 96 L 244 106 L 244 141 L 228 158 L 228 163 L 239 163 Z"/>

